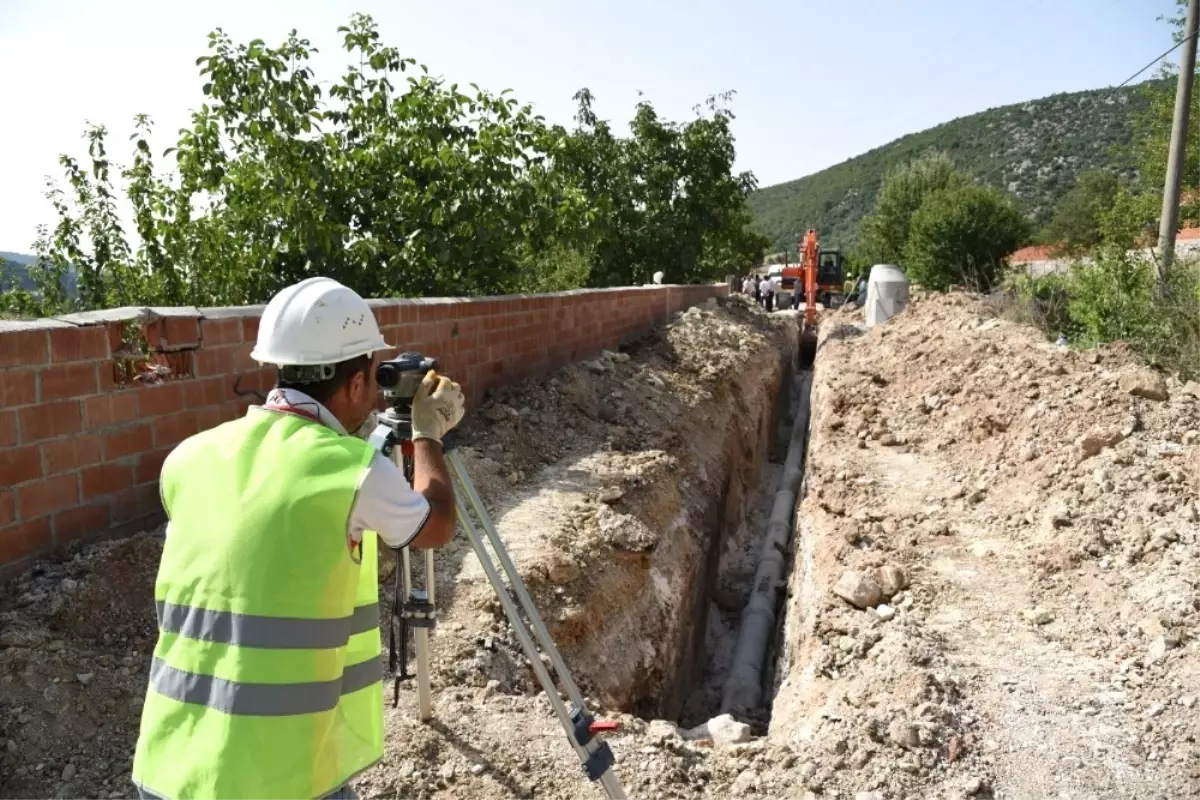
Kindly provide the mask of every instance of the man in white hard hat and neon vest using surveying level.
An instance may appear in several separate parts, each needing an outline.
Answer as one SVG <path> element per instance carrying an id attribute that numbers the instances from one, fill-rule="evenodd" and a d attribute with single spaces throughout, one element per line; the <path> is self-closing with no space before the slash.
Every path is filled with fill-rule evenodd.
<path id="1" fill-rule="evenodd" d="M 349 800 L 383 758 L 377 539 L 455 531 L 442 438 L 463 415 L 432 373 L 413 398 L 413 486 L 350 435 L 377 403 L 371 308 L 329 278 L 283 289 L 251 356 L 262 407 L 180 444 L 162 468 L 158 643 L 133 759 L 139 796 Z"/>

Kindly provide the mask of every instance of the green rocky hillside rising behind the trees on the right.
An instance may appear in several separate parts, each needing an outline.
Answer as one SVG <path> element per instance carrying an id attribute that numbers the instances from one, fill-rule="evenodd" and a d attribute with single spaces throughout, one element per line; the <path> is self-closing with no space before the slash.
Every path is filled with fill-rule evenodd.
<path id="1" fill-rule="evenodd" d="M 943 150 L 978 179 L 1013 192 L 1045 222 L 1055 203 L 1088 169 L 1135 178 L 1130 120 L 1146 108 L 1139 86 L 1052 95 L 964 116 L 910 133 L 820 173 L 750 196 L 756 227 L 779 246 L 794 246 L 810 227 L 823 241 L 858 239 L 887 170 L 928 150 Z"/>

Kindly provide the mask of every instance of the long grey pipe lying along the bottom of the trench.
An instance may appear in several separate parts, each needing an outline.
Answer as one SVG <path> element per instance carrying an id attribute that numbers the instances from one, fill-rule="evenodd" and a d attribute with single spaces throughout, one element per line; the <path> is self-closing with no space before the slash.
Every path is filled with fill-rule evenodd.
<path id="1" fill-rule="evenodd" d="M 721 714 L 745 712 L 762 704 L 767 649 L 775 631 L 778 594 L 786 585 L 787 547 L 796 529 L 796 499 L 804 479 L 804 455 L 809 440 L 809 390 L 812 373 L 802 372 L 792 438 L 787 445 L 784 476 L 767 523 L 750 599 L 742 609 L 738 640 L 730 674 L 721 687 Z"/>

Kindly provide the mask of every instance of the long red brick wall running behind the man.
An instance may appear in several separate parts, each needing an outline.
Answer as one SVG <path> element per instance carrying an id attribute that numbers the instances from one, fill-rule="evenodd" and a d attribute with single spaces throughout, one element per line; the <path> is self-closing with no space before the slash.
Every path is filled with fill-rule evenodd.
<path id="1" fill-rule="evenodd" d="M 485 390 L 594 355 L 721 285 L 371 301 L 388 342 Z M 262 306 L 116 308 L 0 321 L 0 579 L 98 534 L 158 524 L 158 471 L 185 438 L 240 416 L 272 369 L 250 359 Z"/>

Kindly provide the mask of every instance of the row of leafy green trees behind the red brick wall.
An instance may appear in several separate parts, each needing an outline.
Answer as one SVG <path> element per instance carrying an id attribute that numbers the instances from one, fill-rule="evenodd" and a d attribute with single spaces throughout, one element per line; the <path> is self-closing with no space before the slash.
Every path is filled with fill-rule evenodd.
<path id="1" fill-rule="evenodd" d="M 641 103 L 620 138 L 583 90 L 566 132 L 508 90 L 431 77 L 370 17 L 340 31 L 350 65 L 328 90 L 295 32 L 269 47 L 215 31 L 198 60 L 205 103 L 167 151 L 170 172 L 146 118 L 127 167 L 90 127 L 86 161 L 64 156 L 66 188 L 49 190 L 58 223 L 35 247 L 40 288 L 4 306 L 241 305 L 311 275 L 368 296 L 628 284 L 660 269 L 694 282 L 761 254 L 727 97 L 682 125 Z M 74 300 L 58 290 L 68 269 Z"/>

